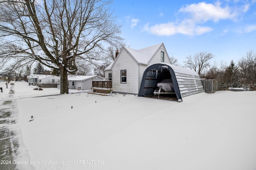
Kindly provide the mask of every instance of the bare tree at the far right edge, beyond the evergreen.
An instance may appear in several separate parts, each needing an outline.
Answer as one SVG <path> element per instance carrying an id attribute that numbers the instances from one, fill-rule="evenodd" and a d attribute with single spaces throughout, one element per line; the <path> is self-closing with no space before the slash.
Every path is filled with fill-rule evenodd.
<path id="1" fill-rule="evenodd" d="M 256 83 L 256 52 L 250 50 L 238 61 L 243 83 Z"/>

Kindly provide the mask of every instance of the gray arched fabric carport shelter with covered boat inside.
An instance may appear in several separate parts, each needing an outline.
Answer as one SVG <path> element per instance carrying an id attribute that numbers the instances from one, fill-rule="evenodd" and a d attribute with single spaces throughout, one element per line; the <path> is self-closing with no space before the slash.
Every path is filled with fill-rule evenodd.
<path id="1" fill-rule="evenodd" d="M 181 102 L 182 97 L 200 92 L 204 92 L 204 88 L 197 72 L 159 63 L 148 66 L 144 71 L 138 96 L 173 93 Z"/>

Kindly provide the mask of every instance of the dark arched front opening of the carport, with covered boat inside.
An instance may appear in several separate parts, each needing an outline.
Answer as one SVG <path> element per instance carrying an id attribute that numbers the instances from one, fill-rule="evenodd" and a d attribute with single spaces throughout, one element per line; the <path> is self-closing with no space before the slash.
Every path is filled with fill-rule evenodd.
<path id="1" fill-rule="evenodd" d="M 158 66 L 147 70 L 145 73 L 145 83 L 142 92 L 144 97 L 178 100 L 168 66 Z"/>

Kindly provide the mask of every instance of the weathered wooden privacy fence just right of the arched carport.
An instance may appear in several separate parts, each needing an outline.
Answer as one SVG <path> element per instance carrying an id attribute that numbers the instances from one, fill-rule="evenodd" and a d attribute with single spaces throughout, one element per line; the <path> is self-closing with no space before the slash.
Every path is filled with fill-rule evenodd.
<path id="1" fill-rule="evenodd" d="M 204 87 L 204 92 L 206 93 L 214 93 L 221 88 L 221 83 L 219 83 L 218 80 L 202 78 L 201 82 Z"/>

